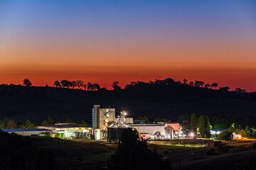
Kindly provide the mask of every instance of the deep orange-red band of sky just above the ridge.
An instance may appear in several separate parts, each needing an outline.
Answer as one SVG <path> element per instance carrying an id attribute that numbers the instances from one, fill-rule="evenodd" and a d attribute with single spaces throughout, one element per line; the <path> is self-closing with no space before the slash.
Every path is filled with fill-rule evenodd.
<path id="1" fill-rule="evenodd" d="M 31 66 L 4 64 L 0 68 L 0 83 L 21 84 L 24 78 L 31 79 L 34 86 L 53 86 L 55 80 L 82 80 L 100 84 L 102 87 L 112 89 L 113 81 L 119 81 L 120 86 L 125 86 L 131 81 L 154 81 L 170 77 L 176 81 L 188 79 L 188 81 L 201 80 L 206 83 L 217 82 L 219 86 L 230 86 L 231 90 L 237 87 L 247 91 L 256 91 L 256 69 L 232 68 L 232 67 L 137 67 L 137 66 L 68 66 L 68 65 L 38 65 Z M 3 81 L 8 80 L 8 81 Z"/>

